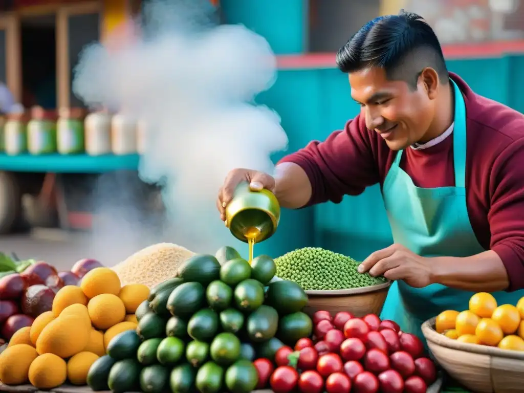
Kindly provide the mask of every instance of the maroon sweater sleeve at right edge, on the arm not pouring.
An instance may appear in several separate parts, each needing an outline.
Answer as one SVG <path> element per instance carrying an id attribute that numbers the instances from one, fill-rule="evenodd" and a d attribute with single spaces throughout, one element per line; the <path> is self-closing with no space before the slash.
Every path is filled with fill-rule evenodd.
<path id="1" fill-rule="evenodd" d="M 489 179 L 490 249 L 508 272 L 508 291 L 524 288 L 524 139 L 506 147 L 494 162 Z"/>

